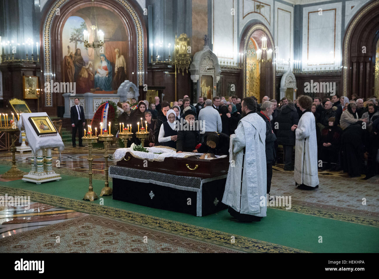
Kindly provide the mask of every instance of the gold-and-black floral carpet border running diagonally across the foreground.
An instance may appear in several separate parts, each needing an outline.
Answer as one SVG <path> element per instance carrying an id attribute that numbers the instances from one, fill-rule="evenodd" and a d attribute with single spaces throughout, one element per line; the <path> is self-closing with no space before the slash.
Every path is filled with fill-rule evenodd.
<path id="1" fill-rule="evenodd" d="M 30 196 L 30 199 L 37 202 L 44 202 L 50 205 L 61 206 L 75 211 L 80 211 L 88 214 L 96 214 L 96 217 L 105 217 L 113 219 L 114 221 L 123 222 L 124 224 L 133 225 L 144 230 L 153 230 L 156 232 L 166 233 L 169 235 L 176 235 L 185 239 L 199 241 L 217 246 L 220 249 L 238 251 L 238 252 L 276 252 L 276 253 L 304 253 L 307 251 L 296 249 L 292 247 L 282 246 L 279 244 L 270 243 L 267 241 L 261 241 L 253 238 L 249 238 L 241 235 L 233 235 L 235 242 L 231 243 L 231 235 L 226 232 L 218 230 L 212 230 L 204 227 L 199 227 L 191 224 L 185 224 L 182 222 L 172 221 L 168 219 L 158 218 L 146 214 L 136 213 L 128 210 L 122 210 L 119 208 L 113 208 L 110 206 L 99 205 L 97 203 L 85 202 L 82 200 L 68 199 L 64 197 L 58 197 L 55 195 L 48 195 L 39 192 L 16 189 L 0 186 L 0 192 L 6 192 L 8 195 L 23 195 Z M 76 222 L 75 219 L 72 222 Z M 64 222 L 66 223 L 66 222 Z M 63 224 L 63 223 L 61 223 Z M 43 230 L 48 227 L 44 227 L 38 230 Z M 32 233 L 34 230 L 25 233 Z M 24 233 L 20 233 L 23 235 Z M 33 235 L 33 234 L 27 234 Z M 140 234 L 141 235 L 141 234 Z M 143 236 L 146 233 L 142 233 Z M 16 235 L 17 236 L 17 235 Z M 35 235 L 34 235 L 35 236 Z M 0 240 L 0 247 L 5 245 L 6 239 L 13 238 L 14 236 L 8 236 L 4 240 Z M 61 241 L 62 242 L 62 241 Z M 51 245 L 51 244 L 49 244 Z M 1 252 L 0 248 L 0 252 Z M 49 251 L 52 252 L 52 251 Z"/>

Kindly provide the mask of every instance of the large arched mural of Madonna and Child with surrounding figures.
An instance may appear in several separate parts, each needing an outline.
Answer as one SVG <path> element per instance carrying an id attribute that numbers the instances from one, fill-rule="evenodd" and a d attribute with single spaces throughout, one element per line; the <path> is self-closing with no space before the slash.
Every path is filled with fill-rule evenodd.
<path id="1" fill-rule="evenodd" d="M 93 9 L 82 8 L 72 13 L 62 32 L 62 79 L 63 82 L 76 82 L 78 94 L 116 91 L 130 74 L 127 69 L 129 55 L 125 26 L 115 14 L 100 7 L 95 7 L 95 19 Z M 91 25 L 97 26 L 95 38 Z M 97 31 L 101 30 L 104 33 L 103 49 L 86 49 L 84 30 L 90 34 L 90 43 L 99 41 Z"/>

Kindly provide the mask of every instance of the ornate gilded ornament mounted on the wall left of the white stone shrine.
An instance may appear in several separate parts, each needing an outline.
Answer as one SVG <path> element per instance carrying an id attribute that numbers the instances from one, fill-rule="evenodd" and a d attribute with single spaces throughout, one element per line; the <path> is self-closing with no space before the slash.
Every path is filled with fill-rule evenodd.
<path id="1" fill-rule="evenodd" d="M 189 64 L 191 64 L 191 39 L 185 33 L 181 34 L 179 38 L 175 35 L 173 56 L 173 62 L 178 68 L 178 73 L 182 70 L 184 76 L 184 70 L 188 73 Z"/>

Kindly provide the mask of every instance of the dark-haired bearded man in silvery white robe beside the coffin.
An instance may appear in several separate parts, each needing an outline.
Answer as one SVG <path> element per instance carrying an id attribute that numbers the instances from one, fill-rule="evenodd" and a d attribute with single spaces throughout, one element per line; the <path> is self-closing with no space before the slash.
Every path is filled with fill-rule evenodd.
<path id="1" fill-rule="evenodd" d="M 222 203 L 229 205 L 228 212 L 239 221 L 260 221 L 266 216 L 266 123 L 256 113 L 253 98 L 244 98 L 241 109 L 246 116 L 230 136 L 230 164 Z"/>

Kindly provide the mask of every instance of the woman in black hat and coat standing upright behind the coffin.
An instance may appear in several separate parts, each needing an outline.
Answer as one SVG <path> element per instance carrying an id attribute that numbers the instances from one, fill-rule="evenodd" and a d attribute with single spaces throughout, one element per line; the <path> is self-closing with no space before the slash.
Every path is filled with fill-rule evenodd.
<path id="1" fill-rule="evenodd" d="M 185 119 L 185 123 L 178 131 L 176 151 L 177 153 L 196 152 L 196 145 L 200 142 L 200 131 L 196 131 L 196 127 L 194 127 L 195 113 L 189 109 L 183 113 L 182 117 Z"/>

